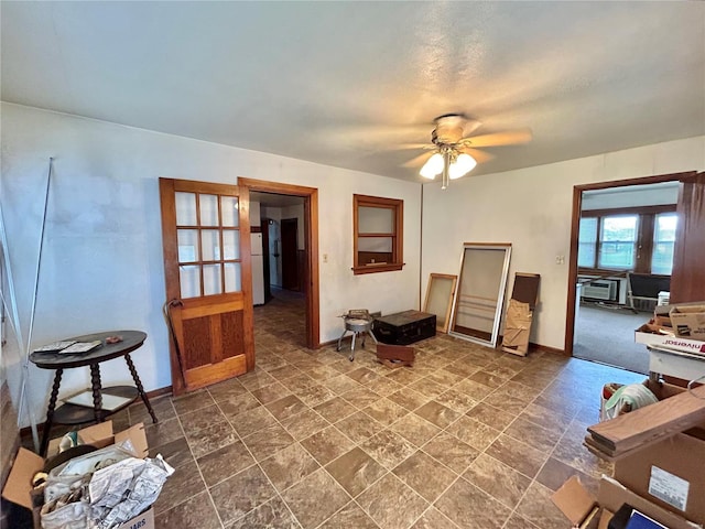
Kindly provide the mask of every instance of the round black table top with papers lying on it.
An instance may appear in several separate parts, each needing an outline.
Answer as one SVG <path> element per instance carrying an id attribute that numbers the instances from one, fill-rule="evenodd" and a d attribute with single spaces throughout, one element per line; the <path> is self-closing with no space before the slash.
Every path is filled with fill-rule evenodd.
<path id="1" fill-rule="evenodd" d="M 108 336 L 120 336 L 122 342 L 106 344 Z M 66 339 L 76 342 L 95 342 L 99 339 L 101 344 L 88 353 L 61 354 L 33 352 L 30 354 L 30 360 L 42 369 L 65 369 L 99 364 L 124 356 L 141 347 L 147 339 L 147 333 L 142 331 L 106 331 L 104 333 L 86 334 Z"/>

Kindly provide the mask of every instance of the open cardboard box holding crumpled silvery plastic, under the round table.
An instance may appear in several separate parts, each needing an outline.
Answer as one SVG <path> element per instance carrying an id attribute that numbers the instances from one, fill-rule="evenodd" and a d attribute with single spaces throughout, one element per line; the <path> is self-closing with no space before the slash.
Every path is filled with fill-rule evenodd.
<path id="1" fill-rule="evenodd" d="M 137 457 L 147 457 L 148 444 L 144 434 L 144 424 L 139 423 L 122 432 L 112 433 L 112 421 L 106 421 L 93 427 L 79 430 L 80 438 L 86 444 L 93 444 L 99 449 L 129 440 Z M 55 455 L 58 452 L 58 442 L 54 439 L 50 442 L 47 454 Z M 44 495 L 32 493 L 32 477 L 44 467 L 46 460 L 26 449 L 20 449 L 10 469 L 10 475 L 2 489 L 2 497 L 8 501 L 18 504 L 33 511 L 34 527 L 40 529 L 39 510 L 44 503 Z M 154 529 L 154 509 L 150 508 L 135 516 L 131 520 L 119 526 L 124 529 L 140 528 Z"/>

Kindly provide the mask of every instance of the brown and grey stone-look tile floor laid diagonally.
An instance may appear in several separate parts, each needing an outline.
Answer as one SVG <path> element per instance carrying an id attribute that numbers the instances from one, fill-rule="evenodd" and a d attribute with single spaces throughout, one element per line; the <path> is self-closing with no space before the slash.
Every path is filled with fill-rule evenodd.
<path id="1" fill-rule="evenodd" d="M 290 296 L 291 298 L 291 296 Z M 563 529 L 549 497 L 610 467 L 582 445 L 607 381 L 643 376 L 552 354 L 420 342 L 413 368 L 368 346 L 302 346 L 302 300 L 256 309 L 257 368 L 116 420 L 145 421 L 176 473 L 159 528 Z M 347 342 L 349 347 L 349 341 Z"/>

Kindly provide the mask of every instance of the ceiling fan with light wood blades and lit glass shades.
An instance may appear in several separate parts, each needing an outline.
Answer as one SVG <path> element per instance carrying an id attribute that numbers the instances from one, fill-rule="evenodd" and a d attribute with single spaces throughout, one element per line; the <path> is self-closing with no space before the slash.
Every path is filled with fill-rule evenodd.
<path id="1" fill-rule="evenodd" d="M 459 114 L 446 114 L 434 119 L 435 128 L 431 132 L 431 143 L 402 145 L 406 149 L 429 149 L 419 156 L 404 163 L 405 168 L 417 168 L 421 176 L 434 180 L 442 175 L 441 188 L 445 190 L 451 180 L 469 173 L 478 163 L 495 158 L 478 147 L 511 145 L 531 141 L 530 129 L 519 129 L 481 136 L 470 134 L 482 123 Z"/>

